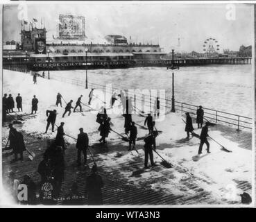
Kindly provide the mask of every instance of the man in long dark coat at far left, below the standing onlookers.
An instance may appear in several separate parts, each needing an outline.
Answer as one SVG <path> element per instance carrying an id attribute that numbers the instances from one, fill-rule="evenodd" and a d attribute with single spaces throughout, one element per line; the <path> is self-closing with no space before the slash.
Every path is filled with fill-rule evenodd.
<path id="1" fill-rule="evenodd" d="M 23 151 L 26 150 L 24 139 L 22 133 L 19 133 L 15 128 L 13 128 L 12 124 L 9 124 L 10 132 L 9 132 L 9 140 L 10 140 L 10 149 L 12 149 L 15 159 L 12 162 L 16 162 L 18 160 L 18 154 L 20 155 L 19 160 L 23 160 Z"/>

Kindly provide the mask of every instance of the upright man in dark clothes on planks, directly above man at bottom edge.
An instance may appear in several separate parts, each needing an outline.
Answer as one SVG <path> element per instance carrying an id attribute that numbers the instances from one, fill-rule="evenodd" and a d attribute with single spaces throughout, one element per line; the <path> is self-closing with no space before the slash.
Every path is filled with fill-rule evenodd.
<path id="1" fill-rule="evenodd" d="M 79 129 L 80 133 L 78 134 L 76 141 L 77 148 L 77 164 L 78 167 L 81 165 L 81 153 L 83 152 L 84 164 L 87 165 L 87 148 L 89 146 L 89 138 L 87 133 L 83 132 L 83 128 Z"/>

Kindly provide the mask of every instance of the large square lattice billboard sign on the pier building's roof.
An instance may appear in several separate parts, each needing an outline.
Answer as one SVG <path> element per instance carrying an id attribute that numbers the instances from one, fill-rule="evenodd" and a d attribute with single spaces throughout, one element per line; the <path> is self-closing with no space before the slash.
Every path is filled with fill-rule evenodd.
<path id="1" fill-rule="evenodd" d="M 59 38 L 62 40 L 84 40 L 85 17 L 59 15 Z"/>

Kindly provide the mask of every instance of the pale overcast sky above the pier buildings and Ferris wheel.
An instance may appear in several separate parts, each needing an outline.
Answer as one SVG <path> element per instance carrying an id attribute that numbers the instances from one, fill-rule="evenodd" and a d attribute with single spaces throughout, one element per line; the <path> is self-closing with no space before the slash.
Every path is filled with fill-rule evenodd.
<path id="1" fill-rule="evenodd" d="M 222 49 L 237 51 L 239 46 L 253 44 L 253 6 L 236 4 L 234 19 L 227 19 L 227 4 L 173 4 L 138 2 L 29 4 L 28 20 L 44 18 L 47 38 L 57 35 L 58 15 L 85 16 L 85 34 L 89 38 L 108 34 L 131 36 L 135 42 L 157 43 L 169 52 L 203 52 L 208 37 L 219 41 Z M 3 41 L 20 41 L 21 21 L 18 6 L 3 10 Z M 178 37 L 180 47 L 178 48 Z"/>

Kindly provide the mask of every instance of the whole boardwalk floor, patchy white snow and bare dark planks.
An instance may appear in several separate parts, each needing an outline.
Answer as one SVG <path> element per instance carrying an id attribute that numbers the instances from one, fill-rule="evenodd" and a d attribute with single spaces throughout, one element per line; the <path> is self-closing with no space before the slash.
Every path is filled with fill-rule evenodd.
<path id="1" fill-rule="evenodd" d="M 6 77 L 7 78 L 7 77 Z M 123 142 L 119 135 L 110 133 L 107 141 L 108 146 L 99 144 L 99 124 L 95 122 L 96 114 L 87 112 L 72 112 L 70 117 L 61 118 L 63 108 L 56 108 L 55 99 L 57 92 L 61 92 L 66 100 L 76 99 L 80 94 L 87 94 L 89 89 L 76 87 L 68 83 L 58 83 L 54 80 L 47 89 L 51 94 L 40 94 L 49 83 L 49 80 L 39 80 L 38 85 L 33 85 L 31 76 L 22 74 L 9 74 L 8 78 L 15 81 L 3 82 L 6 92 L 16 94 L 21 92 L 24 98 L 24 110 L 30 110 L 31 95 L 37 94 L 39 99 L 39 112 L 36 117 L 24 116 L 22 124 L 15 125 L 17 130 L 24 133 L 26 147 L 36 154 L 35 160 L 31 162 L 27 154 L 24 162 L 10 164 L 12 156 L 3 153 L 3 176 L 8 171 L 17 171 L 18 179 L 22 181 L 24 174 L 29 173 L 35 182 L 39 182 L 37 166 L 42 160 L 48 140 L 56 136 L 55 133 L 44 134 L 46 126 L 46 109 L 55 108 L 58 112 L 57 125 L 65 121 L 65 133 L 76 137 L 78 128 L 83 127 L 89 135 L 90 150 L 94 155 L 99 174 L 105 183 L 103 188 L 104 205 L 205 205 L 205 204 L 234 204 L 240 202 L 239 195 L 242 191 L 251 194 L 252 182 L 252 151 L 251 133 L 249 131 L 237 131 L 227 126 L 214 126 L 210 128 L 209 134 L 232 153 L 222 151 L 220 146 L 211 139 L 210 153 L 203 156 L 198 162 L 192 161 L 192 157 L 198 152 L 199 139 L 192 137 L 185 139 L 185 124 L 181 114 L 167 114 L 164 121 L 156 122 L 156 127 L 162 133 L 157 137 L 157 152 L 174 167 L 167 169 L 162 166 L 161 159 L 154 153 L 156 167 L 144 170 L 143 139 L 148 133 L 142 127 L 137 126 L 138 139 L 137 149 L 140 157 L 128 149 L 128 143 Z M 19 87 L 21 81 L 26 81 L 28 87 Z M 11 83 L 11 84 L 10 84 Z M 66 92 L 69 88 L 69 92 Z M 65 93 L 66 92 L 66 93 Z M 86 103 L 87 101 L 83 101 Z M 92 101 L 94 105 L 96 101 Z M 123 134 L 123 117 L 119 114 L 110 114 L 112 128 Z M 133 115 L 133 121 L 143 125 L 144 117 Z M 200 134 L 200 129 L 194 124 L 195 133 Z M 123 134 L 124 135 L 124 134 Z M 3 128 L 3 146 L 6 144 L 8 129 Z M 90 170 L 85 167 L 76 166 L 75 141 L 65 137 L 69 146 L 65 155 L 66 170 L 65 180 L 62 183 L 61 195 L 65 196 L 73 182 L 78 183 L 78 191 L 85 194 L 85 178 L 89 176 Z M 92 159 L 87 153 L 89 167 L 92 167 Z M 236 195 L 230 194 L 235 192 Z M 233 193 L 234 193 L 233 192 Z M 61 204 L 61 201 L 59 202 Z M 87 200 L 85 198 L 85 204 Z"/>

